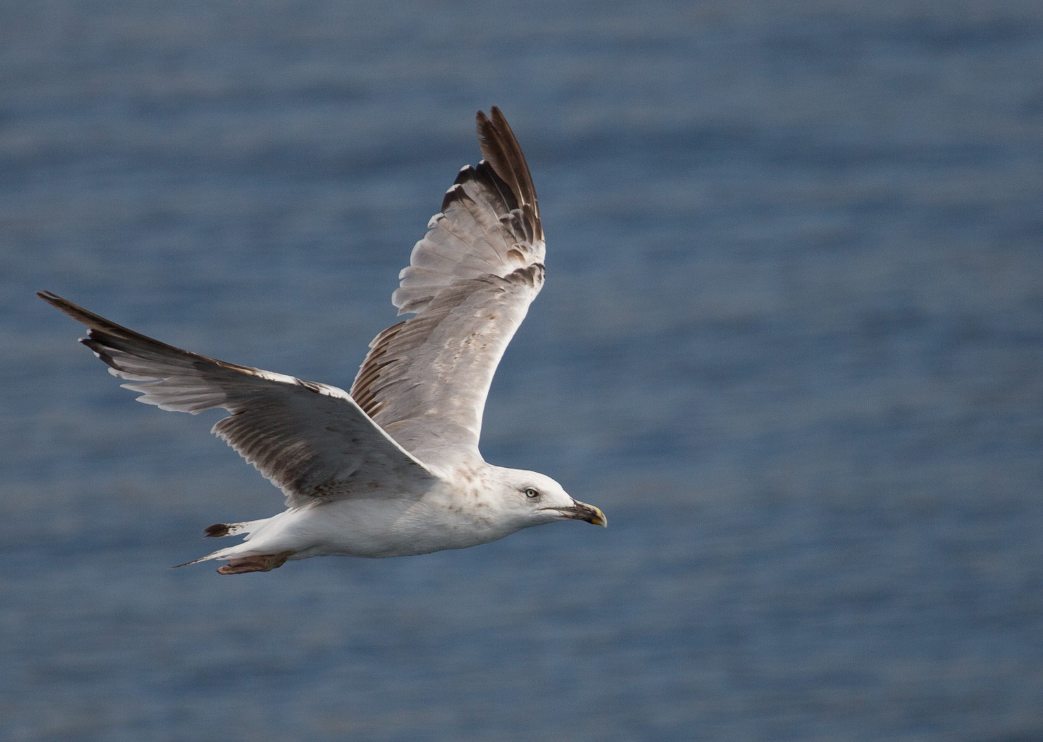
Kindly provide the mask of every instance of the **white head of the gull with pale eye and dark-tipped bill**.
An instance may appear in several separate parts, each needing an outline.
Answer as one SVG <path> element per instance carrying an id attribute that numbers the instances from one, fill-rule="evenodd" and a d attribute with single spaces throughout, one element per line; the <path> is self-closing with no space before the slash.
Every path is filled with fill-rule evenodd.
<path id="1" fill-rule="evenodd" d="M 553 521 L 586 521 L 607 525 L 605 513 L 593 505 L 574 500 L 560 484 L 544 474 L 520 469 L 491 466 L 495 484 L 495 507 L 514 530 Z"/>

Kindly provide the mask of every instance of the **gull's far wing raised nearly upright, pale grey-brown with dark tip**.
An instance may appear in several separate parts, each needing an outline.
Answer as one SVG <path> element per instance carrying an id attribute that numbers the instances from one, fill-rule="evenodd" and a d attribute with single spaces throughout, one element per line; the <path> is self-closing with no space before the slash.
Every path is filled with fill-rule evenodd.
<path id="1" fill-rule="evenodd" d="M 496 364 L 543 285 L 543 230 L 529 166 L 507 120 L 478 113 L 483 160 L 460 170 L 391 297 L 416 316 L 388 328 L 351 397 L 432 464 L 479 456 Z"/>

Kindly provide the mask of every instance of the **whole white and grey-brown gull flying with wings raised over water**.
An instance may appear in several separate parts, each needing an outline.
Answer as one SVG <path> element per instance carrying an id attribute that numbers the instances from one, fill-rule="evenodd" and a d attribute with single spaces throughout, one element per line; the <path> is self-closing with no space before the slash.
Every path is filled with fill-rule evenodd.
<path id="1" fill-rule="evenodd" d="M 477 122 L 482 160 L 445 192 L 391 296 L 413 316 L 369 343 L 350 392 L 184 351 L 38 292 L 90 329 L 80 342 L 139 402 L 227 410 L 211 432 L 286 495 L 271 518 L 207 528 L 243 540 L 178 567 L 268 572 L 311 556 L 464 549 L 554 521 L 607 525 L 550 477 L 478 450 L 492 375 L 543 285 L 545 242 L 507 119 L 493 106 Z"/>

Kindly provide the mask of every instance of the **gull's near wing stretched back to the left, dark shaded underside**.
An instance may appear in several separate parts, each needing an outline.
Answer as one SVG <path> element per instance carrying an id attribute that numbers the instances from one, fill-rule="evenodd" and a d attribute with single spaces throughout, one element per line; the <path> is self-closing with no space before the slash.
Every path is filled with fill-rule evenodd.
<path id="1" fill-rule="evenodd" d="M 189 353 L 56 294 L 37 295 L 91 329 L 80 342 L 112 366 L 110 374 L 135 382 L 123 386 L 142 392 L 140 402 L 193 414 L 232 412 L 213 432 L 282 488 L 290 506 L 401 494 L 434 480 L 342 389 Z M 377 492 L 378 483 L 391 487 Z"/>

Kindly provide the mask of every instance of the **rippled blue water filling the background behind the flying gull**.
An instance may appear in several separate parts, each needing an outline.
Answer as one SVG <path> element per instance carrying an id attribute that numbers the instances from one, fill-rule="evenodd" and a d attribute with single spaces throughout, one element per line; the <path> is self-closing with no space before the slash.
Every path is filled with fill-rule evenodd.
<path id="1" fill-rule="evenodd" d="M 0 738 L 1043 740 L 1041 71 L 1035 0 L 0 3 Z M 483 451 L 610 527 L 167 569 L 281 496 L 32 292 L 347 386 L 490 104 Z"/>

